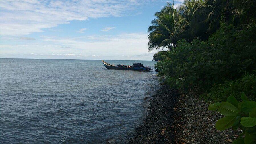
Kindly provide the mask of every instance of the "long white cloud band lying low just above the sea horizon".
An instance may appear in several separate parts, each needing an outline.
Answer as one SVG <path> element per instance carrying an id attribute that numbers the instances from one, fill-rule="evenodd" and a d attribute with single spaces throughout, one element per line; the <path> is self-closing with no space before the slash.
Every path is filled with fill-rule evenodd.
<path id="1" fill-rule="evenodd" d="M 29 41 L 26 44 L 0 44 L 0 57 L 152 60 L 152 55 L 162 49 L 148 52 L 147 35 L 121 33 L 89 37 L 42 37 L 42 41 Z"/>

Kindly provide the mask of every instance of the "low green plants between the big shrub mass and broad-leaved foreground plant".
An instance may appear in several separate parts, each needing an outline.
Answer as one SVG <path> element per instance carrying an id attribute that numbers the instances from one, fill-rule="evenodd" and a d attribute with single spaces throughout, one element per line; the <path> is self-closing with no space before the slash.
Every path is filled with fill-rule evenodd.
<path id="1" fill-rule="evenodd" d="M 241 94 L 245 93 L 248 99 L 256 100 L 256 75 L 245 74 L 242 78 L 214 85 L 208 93 L 201 95 L 205 99 L 212 99 L 216 102 L 225 101 L 232 95 L 241 101 Z"/>

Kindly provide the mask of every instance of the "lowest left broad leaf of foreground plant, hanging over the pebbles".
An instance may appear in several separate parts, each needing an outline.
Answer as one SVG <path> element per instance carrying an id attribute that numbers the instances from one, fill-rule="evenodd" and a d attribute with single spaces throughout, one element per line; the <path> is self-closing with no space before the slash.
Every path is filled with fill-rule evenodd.
<path id="1" fill-rule="evenodd" d="M 217 130 L 225 130 L 227 128 L 230 128 L 235 121 L 236 121 L 236 116 L 225 116 L 223 118 L 220 118 L 216 122 L 215 126 Z"/>

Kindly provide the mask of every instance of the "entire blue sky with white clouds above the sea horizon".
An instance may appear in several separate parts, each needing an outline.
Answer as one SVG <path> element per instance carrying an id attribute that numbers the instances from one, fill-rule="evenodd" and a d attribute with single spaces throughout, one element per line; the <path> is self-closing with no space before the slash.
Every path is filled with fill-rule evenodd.
<path id="1" fill-rule="evenodd" d="M 147 28 L 166 2 L 0 0 L 0 58 L 152 60 Z"/>

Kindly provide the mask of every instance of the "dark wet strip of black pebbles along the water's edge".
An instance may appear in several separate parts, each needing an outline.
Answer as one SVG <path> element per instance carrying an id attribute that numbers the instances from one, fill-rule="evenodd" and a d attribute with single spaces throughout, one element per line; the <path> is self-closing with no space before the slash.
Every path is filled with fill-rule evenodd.
<path id="1" fill-rule="evenodd" d="M 171 126 L 174 122 L 174 105 L 177 91 L 167 85 L 157 90 L 149 100 L 148 115 L 142 124 L 128 134 L 128 143 L 171 143 L 174 139 Z"/>

